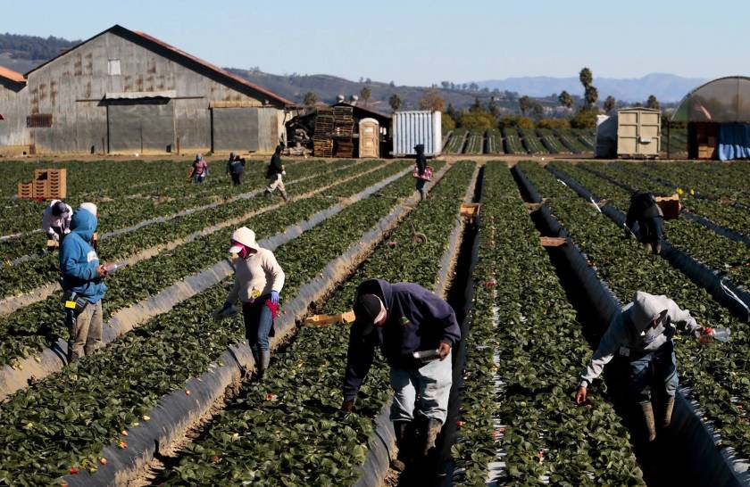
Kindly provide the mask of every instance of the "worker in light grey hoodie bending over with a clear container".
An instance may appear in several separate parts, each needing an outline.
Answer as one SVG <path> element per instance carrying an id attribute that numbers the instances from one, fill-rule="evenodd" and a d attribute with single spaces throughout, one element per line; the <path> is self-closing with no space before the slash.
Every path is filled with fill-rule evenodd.
<path id="1" fill-rule="evenodd" d="M 654 408 L 651 403 L 651 384 L 653 380 L 664 385 L 662 427 L 671 422 L 674 408 L 674 395 L 677 392 L 677 359 L 674 354 L 672 337 L 680 328 L 696 338 L 708 336 L 709 330 L 696 323 L 687 310 L 666 296 L 638 291 L 633 302 L 622 308 L 607 328 L 599 346 L 581 374 L 581 383 L 576 392 L 576 402 L 586 401 L 587 386 L 601 376 L 604 366 L 615 355 L 629 364 L 628 390 L 629 397 L 637 401 L 646 421 L 648 440 L 656 438 Z"/>

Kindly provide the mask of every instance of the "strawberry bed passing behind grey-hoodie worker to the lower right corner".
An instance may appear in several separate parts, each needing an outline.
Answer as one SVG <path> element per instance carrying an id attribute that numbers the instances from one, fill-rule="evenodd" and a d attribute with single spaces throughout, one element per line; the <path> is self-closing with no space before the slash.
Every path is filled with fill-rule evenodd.
<path id="1" fill-rule="evenodd" d="M 747 325 L 733 318 L 666 260 L 645 254 L 638 244 L 623 240 L 620 227 L 562 186 L 548 171 L 531 163 L 521 164 L 521 169 L 539 193 L 550 198 L 547 205 L 554 217 L 620 301 L 628 302 L 637 290 L 666 294 L 690 310 L 699 324 L 728 326 L 732 330 L 732 340 L 721 345 L 703 346 L 694 340 L 679 340 L 678 371 L 681 384 L 689 392 L 688 399 L 700 404 L 701 417 L 716 433 L 716 446 L 722 455 L 750 458 L 750 425 L 744 408 L 750 400 Z M 728 463 L 735 472 L 742 472 L 747 466 L 743 461 Z"/>

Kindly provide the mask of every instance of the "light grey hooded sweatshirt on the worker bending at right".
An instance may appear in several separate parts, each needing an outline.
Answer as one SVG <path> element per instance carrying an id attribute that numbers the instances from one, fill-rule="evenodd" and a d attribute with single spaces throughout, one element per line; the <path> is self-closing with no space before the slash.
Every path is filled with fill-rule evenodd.
<path id="1" fill-rule="evenodd" d="M 652 328 L 651 321 L 659 317 L 662 317 L 659 325 Z M 700 336 L 702 329 L 689 311 L 680 310 L 668 297 L 638 291 L 633 302 L 612 319 L 594 357 L 580 376 L 581 385 L 591 384 L 600 376 L 615 353 L 628 359 L 658 350 L 671 341 L 677 327 L 696 337 Z"/>

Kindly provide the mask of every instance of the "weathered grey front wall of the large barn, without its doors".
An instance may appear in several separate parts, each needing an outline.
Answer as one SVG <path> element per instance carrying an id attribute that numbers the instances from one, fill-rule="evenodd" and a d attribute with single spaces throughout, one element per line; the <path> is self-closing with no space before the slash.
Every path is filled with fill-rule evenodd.
<path id="1" fill-rule="evenodd" d="M 169 54 L 168 54 L 169 55 Z M 120 61 L 120 74 L 108 62 Z M 202 72 L 191 70 L 112 32 L 88 41 L 29 73 L 29 111 L 52 113 L 53 126 L 31 128 L 29 143 L 37 153 L 107 151 L 107 102 L 104 95 L 174 90 L 175 150 L 205 151 L 211 146 L 212 101 L 262 106 L 262 100 L 239 93 Z M 140 141 L 133 141 L 137 150 Z"/>

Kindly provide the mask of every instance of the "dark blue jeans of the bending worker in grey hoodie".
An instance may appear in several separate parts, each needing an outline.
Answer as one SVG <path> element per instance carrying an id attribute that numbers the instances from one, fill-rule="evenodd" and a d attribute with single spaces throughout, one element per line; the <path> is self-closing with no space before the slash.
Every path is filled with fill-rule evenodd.
<path id="1" fill-rule="evenodd" d="M 664 343 L 657 351 L 630 361 L 630 396 L 642 404 L 649 402 L 652 384 L 664 384 L 664 391 L 670 397 L 677 392 L 677 358 L 671 341 Z"/>

